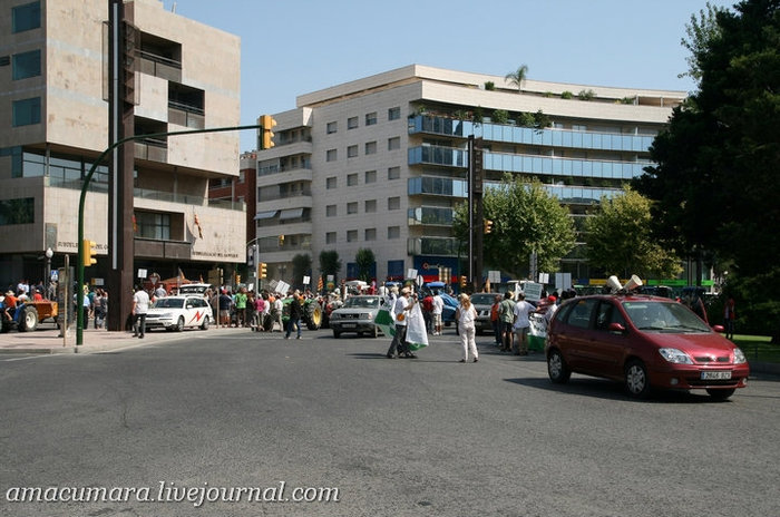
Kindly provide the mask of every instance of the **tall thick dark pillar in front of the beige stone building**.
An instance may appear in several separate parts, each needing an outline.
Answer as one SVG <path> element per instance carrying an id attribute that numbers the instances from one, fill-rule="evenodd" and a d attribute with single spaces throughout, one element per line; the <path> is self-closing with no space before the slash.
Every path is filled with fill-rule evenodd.
<path id="1" fill-rule="evenodd" d="M 133 26 L 131 4 L 126 7 L 123 0 L 108 0 L 108 139 L 111 146 L 135 133 L 134 108 L 138 95 L 135 70 L 140 41 L 138 30 Z M 111 310 L 106 326 L 109 331 L 125 330 L 125 319 L 133 308 L 134 162 L 134 142 L 113 149 L 108 175 L 108 292 L 111 294 Z"/>

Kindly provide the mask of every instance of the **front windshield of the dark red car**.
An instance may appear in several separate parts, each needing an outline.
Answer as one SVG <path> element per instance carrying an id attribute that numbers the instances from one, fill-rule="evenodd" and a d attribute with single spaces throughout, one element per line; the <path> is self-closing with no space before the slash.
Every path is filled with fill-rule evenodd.
<path id="1" fill-rule="evenodd" d="M 623 302 L 623 309 L 638 330 L 710 332 L 706 323 L 677 302 Z"/>

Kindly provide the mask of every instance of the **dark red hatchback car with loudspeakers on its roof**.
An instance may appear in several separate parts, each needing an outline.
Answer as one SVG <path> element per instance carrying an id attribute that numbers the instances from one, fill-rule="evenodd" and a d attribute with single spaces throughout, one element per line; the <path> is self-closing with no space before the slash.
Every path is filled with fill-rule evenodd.
<path id="1" fill-rule="evenodd" d="M 572 372 L 625 383 L 630 396 L 651 388 L 703 389 L 719 400 L 744 388 L 744 353 L 682 303 L 642 294 L 568 300 L 555 313 L 545 352 L 553 382 Z"/>

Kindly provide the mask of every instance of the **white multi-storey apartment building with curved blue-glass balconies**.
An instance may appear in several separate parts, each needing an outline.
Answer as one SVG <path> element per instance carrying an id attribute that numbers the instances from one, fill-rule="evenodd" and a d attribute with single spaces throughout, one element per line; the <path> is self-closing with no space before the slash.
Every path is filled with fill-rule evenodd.
<path id="1" fill-rule="evenodd" d="M 275 146 L 257 153 L 257 238 L 270 276 L 295 254 L 334 250 L 357 275 L 458 271 L 454 206 L 468 196 L 467 142 L 482 138 L 486 188 L 505 173 L 538 178 L 572 217 L 649 165 L 647 149 L 683 91 L 525 80 L 408 66 L 298 97 L 274 115 Z M 537 123 L 544 120 L 543 126 Z M 536 126 L 536 127 L 535 127 Z M 283 236 L 283 238 L 282 238 Z M 562 263 L 589 274 L 582 248 Z M 300 282 L 298 279 L 289 279 Z"/>

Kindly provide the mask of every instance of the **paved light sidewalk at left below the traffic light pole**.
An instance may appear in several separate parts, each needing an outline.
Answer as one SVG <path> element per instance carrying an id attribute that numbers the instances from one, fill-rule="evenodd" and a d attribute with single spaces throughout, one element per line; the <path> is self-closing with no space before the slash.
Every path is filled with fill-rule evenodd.
<path id="1" fill-rule="evenodd" d="M 66 338 L 62 338 L 52 323 L 41 324 L 35 332 L 11 331 L 0 334 L 0 354 L 20 353 L 78 353 L 101 352 L 108 350 L 131 347 L 136 344 L 156 343 L 159 341 L 174 341 L 188 336 L 207 334 L 209 336 L 227 332 L 246 332 L 250 329 L 236 328 L 209 328 L 202 330 L 186 329 L 182 332 L 167 332 L 164 330 L 147 331 L 144 339 L 133 336 L 133 332 L 109 332 L 105 329 L 84 329 L 82 344 L 76 345 L 76 328 L 71 328 Z"/>

